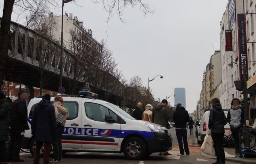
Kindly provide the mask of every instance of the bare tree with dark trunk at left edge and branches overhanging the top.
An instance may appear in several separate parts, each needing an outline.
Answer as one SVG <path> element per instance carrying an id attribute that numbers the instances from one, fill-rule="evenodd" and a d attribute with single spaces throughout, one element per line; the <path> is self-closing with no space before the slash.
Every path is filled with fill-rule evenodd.
<path id="1" fill-rule="evenodd" d="M 97 2 L 98 0 L 94 0 Z M 104 8 L 109 12 L 108 21 L 114 15 L 118 14 L 120 20 L 124 22 L 122 18 L 122 13 L 124 12 L 127 6 L 135 7 L 139 6 L 143 9 L 144 13 L 152 12 L 146 3 L 143 3 L 142 0 L 102 0 Z M 22 13 L 29 11 L 30 15 L 34 13 L 35 17 L 38 11 L 46 11 L 49 7 L 59 7 L 57 0 L 4 0 L 3 5 L 3 16 L 1 20 L 1 29 L 0 29 L 0 82 L 4 78 L 4 63 L 8 57 L 8 44 L 10 42 L 10 24 L 11 24 L 11 15 L 12 12 L 16 9 Z M 38 12 L 40 13 L 40 12 Z M 34 16 L 27 17 L 26 24 L 29 26 L 30 22 L 34 19 Z M 0 87 L 1 87 L 0 83 Z"/>

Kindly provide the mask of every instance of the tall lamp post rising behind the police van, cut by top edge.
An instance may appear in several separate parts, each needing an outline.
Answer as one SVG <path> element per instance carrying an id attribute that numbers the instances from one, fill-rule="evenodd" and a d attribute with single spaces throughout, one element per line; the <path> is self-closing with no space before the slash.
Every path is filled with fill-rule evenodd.
<path id="1" fill-rule="evenodd" d="M 59 87 L 62 86 L 62 74 L 63 74 L 63 9 L 64 3 L 71 2 L 72 0 L 62 0 L 62 14 L 61 14 L 61 39 L 60 39 L 60 79 Z"/>

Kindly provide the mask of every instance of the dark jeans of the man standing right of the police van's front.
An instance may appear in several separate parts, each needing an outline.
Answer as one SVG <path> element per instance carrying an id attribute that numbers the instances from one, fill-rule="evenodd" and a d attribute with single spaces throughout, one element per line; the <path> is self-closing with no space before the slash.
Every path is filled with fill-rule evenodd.
<path id="1" fill-rule="evenodd" d="M 187 137 L 187 129 L 176 129 L 176 136 L 180 148 L 180 154 L 184 155 L 184 149 L 187 155 L 189 155 L 189 149 L 188 149 L 188 137 Z M 184 149 L 183 149 L 183 143 L 184 143 Z"/>

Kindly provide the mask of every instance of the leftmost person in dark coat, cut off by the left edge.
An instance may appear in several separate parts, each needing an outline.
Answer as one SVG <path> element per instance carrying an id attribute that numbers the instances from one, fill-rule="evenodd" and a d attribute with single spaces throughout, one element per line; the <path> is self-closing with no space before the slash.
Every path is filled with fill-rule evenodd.
<path id="1" fill-rule="evenodd" d="M 7 163 L 7 150 L 5 141 L 8 139 L 10 126 L 10 109 L 12 102 L 0 92 L 0 163 Z"/>

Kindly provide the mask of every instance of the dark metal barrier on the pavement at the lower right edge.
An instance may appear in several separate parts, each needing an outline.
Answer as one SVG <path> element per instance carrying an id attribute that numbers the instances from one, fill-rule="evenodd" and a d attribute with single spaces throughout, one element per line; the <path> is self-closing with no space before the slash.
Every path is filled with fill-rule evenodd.
<path id="1" fill-rule="evenodd" d="M 256 155 L 256 153 L 251 153 L 251 152 L 242 152 L 242 143 L 245 142 L 245 134 L 249 135 L 249 142 L 250 145 L 249 147 L 246 147 L 247 150 L 256 148 L 256 129 L 253 128 L 240 128 L 239 130 L 239 153 L 240 153 L 240 158 L 242 157 L 243 154 L 252 154 Z"/>

